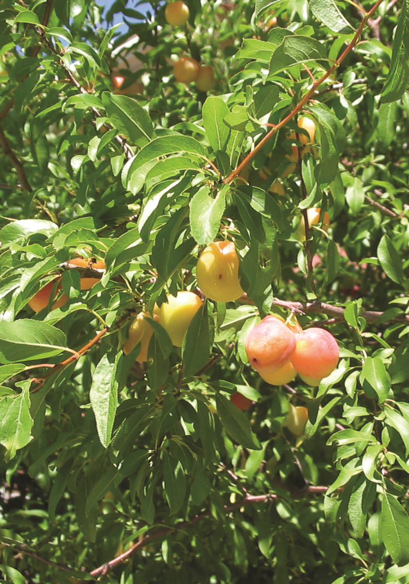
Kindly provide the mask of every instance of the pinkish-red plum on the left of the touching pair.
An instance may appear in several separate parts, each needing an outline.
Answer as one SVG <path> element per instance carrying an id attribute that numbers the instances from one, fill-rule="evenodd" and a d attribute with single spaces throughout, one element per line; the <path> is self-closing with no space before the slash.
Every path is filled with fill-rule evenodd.
<path id="1" fill-rule="evenodd" d="M 247 335 L 245 350 L 251 366 L 263 373 L 278 371 L 292 357 L 296 337 L 278 318 L 262 319 Z"/>

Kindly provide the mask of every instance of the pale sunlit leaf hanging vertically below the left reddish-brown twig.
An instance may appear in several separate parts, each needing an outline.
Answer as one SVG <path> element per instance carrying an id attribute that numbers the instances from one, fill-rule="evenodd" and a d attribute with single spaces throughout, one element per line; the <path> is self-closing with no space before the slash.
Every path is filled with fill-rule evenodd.
<path id="1" fill-rule="evenodd" d="M 89 399 L 95 415 L 96 429 L 100 443 L 108 448 L 118 404 L 118 382 L 116 367 L 121 353 L 103 355 L 92 376 Z"/>

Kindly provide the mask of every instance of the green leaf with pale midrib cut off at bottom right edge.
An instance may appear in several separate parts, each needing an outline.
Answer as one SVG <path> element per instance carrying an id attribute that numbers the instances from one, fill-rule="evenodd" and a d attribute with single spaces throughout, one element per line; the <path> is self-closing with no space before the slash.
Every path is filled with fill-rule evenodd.
<path id="1" fill-rule="evenodd" d="M 382 541 L 398 565 L 409 562 L 409 517 L 398 501 L 384 493 L 381 509 Z"/>

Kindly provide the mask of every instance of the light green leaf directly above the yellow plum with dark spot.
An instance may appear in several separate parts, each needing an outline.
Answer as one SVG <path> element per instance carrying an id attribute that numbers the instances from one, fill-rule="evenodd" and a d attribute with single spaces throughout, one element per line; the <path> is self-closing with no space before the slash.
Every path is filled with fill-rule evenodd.
<path id="1" fill-rule="evenodd" d="M 199 245 L 207 245 L 216 238 L 226 208 L 226 189 L 221 189 L 214 198 L 209 193 L 209 187 L 203 186 L 190 200 L 190 229 Z"/>

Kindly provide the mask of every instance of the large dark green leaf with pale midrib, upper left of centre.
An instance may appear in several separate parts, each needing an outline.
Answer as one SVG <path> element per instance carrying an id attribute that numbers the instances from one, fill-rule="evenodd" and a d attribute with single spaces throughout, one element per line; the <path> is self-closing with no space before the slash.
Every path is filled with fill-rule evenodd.
<path id="1" fill-rule="evenodd" d="M 135 99 L 105 91 L 102 103 L 110 123 L 119 133 L 129 137 L 133 144 L 142 147 L 154 138 L 152 120 Z"/>

